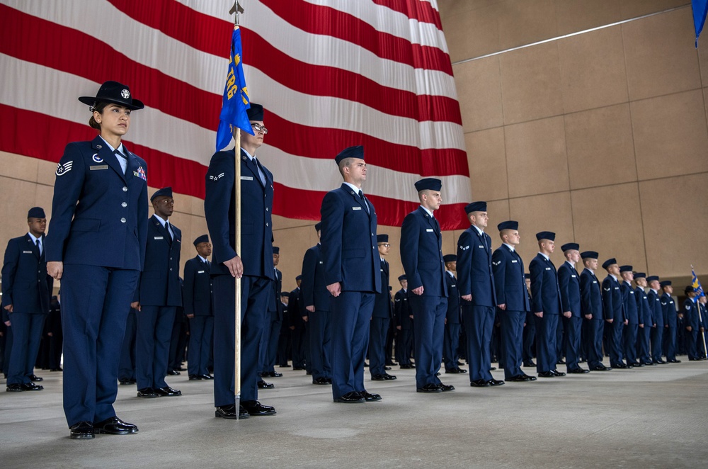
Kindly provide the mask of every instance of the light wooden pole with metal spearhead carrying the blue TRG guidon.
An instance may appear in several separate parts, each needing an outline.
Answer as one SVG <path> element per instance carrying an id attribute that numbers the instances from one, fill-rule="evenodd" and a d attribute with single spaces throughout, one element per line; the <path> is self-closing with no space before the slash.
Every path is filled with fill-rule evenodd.
<path id="1" fill-rule="evenodd" d="M 244 9 L 239 5 L 239 1 L 234 2 L 229 15 L 234 17 L 234 29 L 239 27 L 239 13 L 244 13 Z M 234 140 L 234 212 L 236 213 L 236 255 L 241 255 L 241 129 L 236 127 Z M 236 420 L 239 419 L 239 409 L 241 407 L 241 278 L 236 278 L 235 289 L 235 309 L 234 309 L 234 401 L 236 403 Z"/>

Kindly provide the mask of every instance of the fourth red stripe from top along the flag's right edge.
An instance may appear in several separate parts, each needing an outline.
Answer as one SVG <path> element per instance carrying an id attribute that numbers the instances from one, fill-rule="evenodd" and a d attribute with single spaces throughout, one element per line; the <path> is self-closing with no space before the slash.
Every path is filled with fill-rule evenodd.
<path id="1" fill-rule="evenodd" d="M 346 147 L 364 145 L 368 164 L 421 176 L 469 176 L 467 153 L 461 149 L 421 150 L 351 130 L 308 127 L 285 120 L 268 109 L 263 120 L 268 127 L 265 143 L 287 154 L 334 159 Z"/>

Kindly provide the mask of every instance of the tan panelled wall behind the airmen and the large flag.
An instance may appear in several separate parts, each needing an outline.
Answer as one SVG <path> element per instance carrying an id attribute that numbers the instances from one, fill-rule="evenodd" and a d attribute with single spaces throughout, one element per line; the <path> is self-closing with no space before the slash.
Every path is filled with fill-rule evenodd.
<path id="1" fill-rule="evenodd" d="M 489 202 L 492 239 L 498 222 L 518 220 L 526 264 L 537 252 L 535 233 L 551 230 L 559 244 L 576 241 L 602 259 L 615 256 L 680 286 L 693 264 L 708 283 L 708 36 L 695 50 L 690 2 L 438 0 L 438 6 L 472 193 Z M 632 21 L 586 31 L 626 20 Z M 560 38 L 572 33 L 579 34 Z M 549 41 L 532 45 L 542 40 Z M 28 208 L 42 205 L 50 216 L 55 168 L 0 152 L 3 249 L 26 232 Z M 191 241 L 207 230 L 202 200 L 175 199 L 171 222 L 183 232 L 184 263 L 195 256 Z M 304 252 L 316 243 L 314 222 L 275 217 L 273 225 L 283 287 L 290 290 Z M 400 229 L 382 232 L 393 245 L 388 260 L 397 290 Z M 446 254 L 455 252 L 459 233 L 443 234 Z M 560 264 L 562 254 L 553 260 Z"/>

